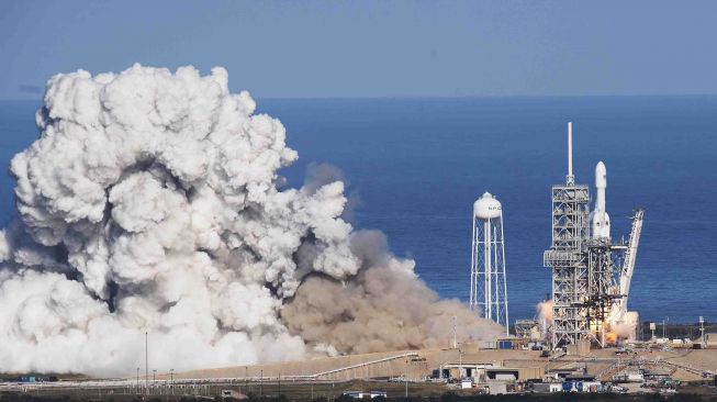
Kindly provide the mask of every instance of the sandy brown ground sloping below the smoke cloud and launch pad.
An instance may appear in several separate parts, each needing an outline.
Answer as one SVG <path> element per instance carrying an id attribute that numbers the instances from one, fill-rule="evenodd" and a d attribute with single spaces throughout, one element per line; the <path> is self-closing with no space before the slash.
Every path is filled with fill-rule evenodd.
<path id="1" fill-rule="evenodd" d="M 194 370 L 175 373 L 173 381 L 169 381 L 170 376 L 165 373 L 157 376 L 156 382 L 149 380 L 148 388 L 145 388 L 144 378 L 141 377 L 137 383 L 135 376 L 120 382 L 66 379 L 56 383 L 10 383 L 8 388 L 0 388 L 0 402 L 10 401 L 16 395 L 31 399 L 69 395 L 71 400 L 116 402 L 154 399 L 168 402 L 181 398 L 214 399 L 222 390 L 235 390 L 265 399 L 289 395 L 291 400 L 334 400 L 345 391 L 385 391 L 389 398 L 401 398 L 406 394 L 406 383 L 410 397 L 439 399 L 446 392 L 474 395 L 475 390 L 451 390 L 444 382 L 424 381 L 434 369 L 456 362 L 528 368 L 528 371 L 538 373 L 586 369 L 589 375 L 598 376 L 601 380 L 610 380 L 612 376 L 631 364 L 631 369 L 648 368 L 675 380 L 692 381 L 692 384 L 682 387 L 681 393 L 714 395 L 714 387 L 705 386 L 710 379 L 704 379 L 703 373 L 717 372 L 717 349 L 638 350 L 629 355 L 617 355 L 615 349 L 594 349 L 589 356 L 567 355 L 548 359 L 540 357 L 538 350 L 486 350 L 462 346 L 460 350 L 392 351 Z M 406 378 L 408 381 L 405 381 Z"/>

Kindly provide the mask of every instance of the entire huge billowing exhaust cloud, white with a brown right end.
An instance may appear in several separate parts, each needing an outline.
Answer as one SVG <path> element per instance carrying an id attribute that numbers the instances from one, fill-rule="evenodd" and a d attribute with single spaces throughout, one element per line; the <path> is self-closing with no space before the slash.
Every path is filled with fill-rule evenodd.
<path id="1" fill-rule="evenodd" d="M 152 367 L 181 370 L 434 345 L 452 315 L 490 331 L 352 231 L 331 169 L 279 190 L 298 155 L 227 79 L 135 65 L 48 81 L 41 137 L 11 164 L 0 371 L 128 373 L 145 333 Z"/>

